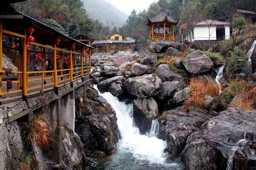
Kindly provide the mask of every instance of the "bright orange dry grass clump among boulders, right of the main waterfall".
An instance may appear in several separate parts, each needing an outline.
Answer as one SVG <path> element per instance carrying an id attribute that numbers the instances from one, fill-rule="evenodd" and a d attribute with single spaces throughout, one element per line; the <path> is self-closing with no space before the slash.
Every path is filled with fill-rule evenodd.
<path id="1" fill-rule="evenodd" d="M 191 95 L 184 102 L 185 109 L 191 111 L 194 107 L 205 108 L 205 96 L 219 96 L 219 86 L 212 78 L 191 78 L 189 86 Z"/>

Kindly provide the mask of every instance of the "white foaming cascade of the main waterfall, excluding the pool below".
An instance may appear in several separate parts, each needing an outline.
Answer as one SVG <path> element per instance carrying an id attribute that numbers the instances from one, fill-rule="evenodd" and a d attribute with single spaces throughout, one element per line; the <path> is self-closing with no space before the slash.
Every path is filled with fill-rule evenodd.
<path id="1" fill-rule="evenodd" d="M 97 86 L 94 85 L 97 89 Z M 164 164 L 166 141 L 157 139 L 157 120 L 152 122 L 152 130 L 148 135 L 141 135 L 133 121 L 133 105 L 121 102 L 111 93 L 99 93 L 113 107 L 117 117 L 117 125 L 121 133 L 118 149 L 129 152 L 135 160 L 142 160 L 148 164 Z M 136 161 L 135 161 L 136 162 Z M 173 166 L 174 164 L 172 164 Z"/>

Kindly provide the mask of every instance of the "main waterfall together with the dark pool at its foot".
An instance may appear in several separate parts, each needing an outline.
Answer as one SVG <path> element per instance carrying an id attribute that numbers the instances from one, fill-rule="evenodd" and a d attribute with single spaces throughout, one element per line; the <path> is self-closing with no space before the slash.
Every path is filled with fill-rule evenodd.
<path id="1" fill-rule="evenodd" d="M 96 85 L 94 88 L 97 89 Z M 141 135 L 133 122 L 133 105 L 121 102 L 112 94 L 99 93 L 113 107 L 121 133 L 118 151 L 108 160 L 95 165 L 95 170 L 182 170 L 181 158 L 168 159 L 164 153 L 166 141 L 157 139 L 158 123 L 153 121 L 151 132 Z"/>

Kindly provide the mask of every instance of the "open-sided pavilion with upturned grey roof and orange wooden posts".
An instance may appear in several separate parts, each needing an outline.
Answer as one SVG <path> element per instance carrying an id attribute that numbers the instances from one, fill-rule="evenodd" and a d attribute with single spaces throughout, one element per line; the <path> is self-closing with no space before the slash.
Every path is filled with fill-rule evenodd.
<path id="1" fill-rule="evenodd" d="M 162 10 L 154 18 L 148 18 L 147 25 L 150 27 L 150 41 L 173 41 L 175 39 L 175 25 L 177 25 L 178 22 L 179 19 L 175 21 L 166 13 L 162 12 Z"/>

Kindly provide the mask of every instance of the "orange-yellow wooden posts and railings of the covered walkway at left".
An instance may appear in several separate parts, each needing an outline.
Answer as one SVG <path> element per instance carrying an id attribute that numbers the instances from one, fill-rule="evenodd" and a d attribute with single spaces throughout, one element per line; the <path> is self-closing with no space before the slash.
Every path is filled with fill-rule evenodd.
<path id="1" fill-rule="evenodd" d="M 23 42 L 23 44 L 15 49 L 3 47 L 3 35 L 20 38 L 20 42 Z M 0 22 L 0 66 L 2 65 L 3 48 L 13 50 L 20 54 L 19 71 L 11 71 L 12 78 L 9 79 L 11 79 L 10 81 L 12 82 L 13 88 L 8 89 L 8 91 L 7 81 L 9 80 L 3 80 L 3 75 L 6 74 L 6 70 L 3 70 L 3 68 L 0 67 L 0 102 L 10 101 L 20 97 L 23 97 L 23 100 L 27 100 L 27 96 L 30 94 L 43 94 L 50 89 L 54 89 L 56 92 L 57 88 L 62 86 L 67 87 L 68 84 L 73 86 L 73 82 L 78 83 L 79 80 L 83 81 L 84 78 L 91 74 L 90 53 L 86 53 L 85 56 L 82 56 L 81 51 L 61 49 L 56 47 L 56 44 L 54 44 L 54 46 L 49 46 L 38 43 L 31 43 L 30 45 L 35 46 L 34 49 L 41 49 L 40 51 L 30 50 L 27 49 L 26 37 L 26 30 L 24 31 L 24 35 L 3 30 L 2 23 Z M 43 58 L 43 61 L 40 61 L 43 65 L 42 70 L 27 71 L 27 55 L 31 53 L 41 54 L 41 58 Z M 68 64 L 64 63 L 63 53 L 69 58 L 69 67 Z M 48 60 L 48 62 L 53 62 L 52 70 L 46 69 L 46 55 L 48 56 L 48 59 L 52 57 L 52 59 L 50 58 L 50 60 Z M 59 58 L 57 58 L 57 56 Z M 74 57 L 80 58 L 79 67 L 76 67 L 74 64 Z M 59 69 L 57 69 L 57 64 Z M 66 68 L 63 69 L 63 67 Z"/>

